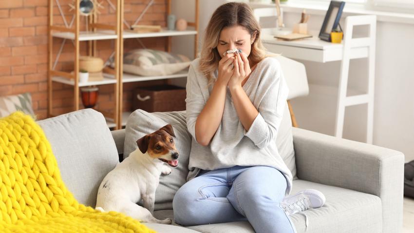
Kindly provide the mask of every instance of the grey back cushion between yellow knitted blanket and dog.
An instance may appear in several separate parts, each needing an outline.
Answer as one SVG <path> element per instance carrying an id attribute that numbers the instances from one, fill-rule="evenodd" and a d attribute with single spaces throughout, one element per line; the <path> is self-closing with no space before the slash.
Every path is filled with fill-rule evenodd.
<path id="1" fill-rule="evenodd" d="M 79 203 L 94 207 L 102 179 L 119 162 L 103 115 L 84 109 L 38 124 L 52 146 L 66 187 Z"/>

